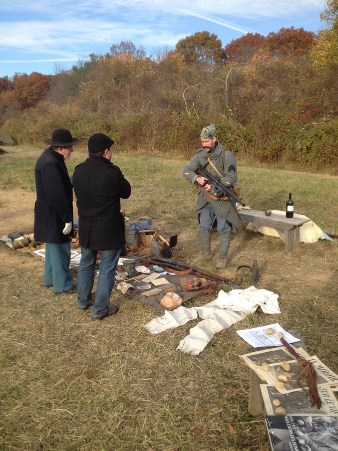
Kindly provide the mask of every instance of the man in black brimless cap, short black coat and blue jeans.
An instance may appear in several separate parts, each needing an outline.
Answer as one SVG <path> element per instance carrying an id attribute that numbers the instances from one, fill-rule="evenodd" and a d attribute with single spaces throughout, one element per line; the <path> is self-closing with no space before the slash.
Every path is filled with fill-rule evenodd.
<path id="1" fill-rule="evenodd" d="M 87 310 L 92 303 L 95 264 L 100 251 L 93 321 L 101 321 L 118 311 L 116 305 L 109 305 L 110 295 L 119 257 L 126 244 L 120 198 L 128 199 L 131 186 L 120 168 L 111 163 L 113 144 L 109 136 L 95 133 L 88 140 L 88 158 L 76 166 L 73 174 L 79 212 L 81 261 L 77 286 L 81 310 Z"/>

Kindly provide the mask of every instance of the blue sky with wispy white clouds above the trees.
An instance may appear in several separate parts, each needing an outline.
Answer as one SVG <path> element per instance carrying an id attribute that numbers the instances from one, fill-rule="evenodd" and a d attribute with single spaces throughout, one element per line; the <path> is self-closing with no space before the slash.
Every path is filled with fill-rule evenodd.
<path id="1" fill-rule="evenodd" d="M 324 7 L 324 0 L 3 0 L 0 77 L 54 74 L 127 40 L 150 56 L 201 31 L 223 47 L 291 26 L 317 33 Z"/>

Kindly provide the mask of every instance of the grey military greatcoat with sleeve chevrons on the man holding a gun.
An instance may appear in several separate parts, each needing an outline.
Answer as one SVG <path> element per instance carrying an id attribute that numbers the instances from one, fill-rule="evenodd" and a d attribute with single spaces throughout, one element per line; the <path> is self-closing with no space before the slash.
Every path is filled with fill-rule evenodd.
<path id="1" fill-rule="evenodd" d="M 212 161 L 212 164 L 216 167 L 218 172 L 223 176 L 220 178 L 219 174 L 209 164 L 208 157 Z M 216 141 L 215 147 L 210 153 L 206 152 L 203 148 L 196 151 L 195 155 L 191 158 L 188 164 L 183 169 L 183 176 L 190 182 L 195 183 L 198 175 L 196 170 L 199 166 L 205 167 L 215 178 L 219 179 L 221 183 L 229 187 L 229 191 L 233 192 L 232 184 L 237 181 L 237 163 L 235 156 L 222 147 L 222 145 Z M 220 207 L 219 213 L 231 223 L 231 229 L 233 233 L 241 230 L 241 221 L 238 214 L 235 211 L 235 200 L 215 200 L 207 197 L 204 192 L 204 188 L 199 186 L 199 192 L 197 196 L 196 213 L 199 214 L 201 208 L 203 208 L 208 202 L 216 209 Z"/>

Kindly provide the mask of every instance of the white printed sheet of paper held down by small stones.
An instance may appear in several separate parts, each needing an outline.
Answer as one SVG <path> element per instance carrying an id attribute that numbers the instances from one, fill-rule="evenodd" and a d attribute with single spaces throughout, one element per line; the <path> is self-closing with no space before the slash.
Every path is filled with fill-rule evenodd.
<path id="1" fill-rule="evenodd" d="M 268 335 L 265 333 L 266 329 L 270 327 L 276 331 L 275 334 Z M 243 338 L 243 340 L 254 348 L 260 348 L 263 346 L 283 346 L 283 343 L 277 337 L 277 332 L 281 332 L 284 335 L 284 340 L 287 343 L 299 341 L 299 338 L 296 338 L 286 332 L 286 330 L 284 330 L 278 323 L 254 327 L 253 329 L 237 330 L 236 332 L 241 338 Z"/>

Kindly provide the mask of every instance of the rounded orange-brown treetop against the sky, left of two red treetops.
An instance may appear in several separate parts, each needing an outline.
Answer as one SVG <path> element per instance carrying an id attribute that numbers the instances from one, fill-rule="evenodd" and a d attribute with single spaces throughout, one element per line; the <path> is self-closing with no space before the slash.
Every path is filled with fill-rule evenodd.
<path id="1" fill-rule="evenodd" d="M 207 64 L 220 63 L 225 60 L 222 42 L 217 35 L 209 32 L 196 32 L 181 39 L 176 44 L 177 52 L 184 57 L 185 63 L 200 62 Z"/>

